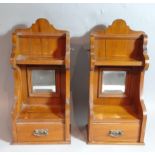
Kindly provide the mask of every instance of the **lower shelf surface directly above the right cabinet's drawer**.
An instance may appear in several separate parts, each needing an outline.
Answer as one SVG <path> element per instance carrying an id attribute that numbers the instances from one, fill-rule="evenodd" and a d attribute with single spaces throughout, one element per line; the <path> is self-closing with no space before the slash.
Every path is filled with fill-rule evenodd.
<path id="1" fill-rule="evenodd" d="M 131 105 L 95 105 L 93 108 L 94 121 L 119 120 L 139 121 Z"/>

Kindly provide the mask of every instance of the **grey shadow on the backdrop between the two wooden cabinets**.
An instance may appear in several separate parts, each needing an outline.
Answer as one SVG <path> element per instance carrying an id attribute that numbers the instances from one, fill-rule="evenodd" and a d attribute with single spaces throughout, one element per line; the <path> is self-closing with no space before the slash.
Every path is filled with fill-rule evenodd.
<path id="1" fill-rule="evenodd" d="M 82 141 L 87 141 L 89 116 L 90 33 L 105 28 L 97 25 L 83 36 L 71 38 L 71 134 Z"/>

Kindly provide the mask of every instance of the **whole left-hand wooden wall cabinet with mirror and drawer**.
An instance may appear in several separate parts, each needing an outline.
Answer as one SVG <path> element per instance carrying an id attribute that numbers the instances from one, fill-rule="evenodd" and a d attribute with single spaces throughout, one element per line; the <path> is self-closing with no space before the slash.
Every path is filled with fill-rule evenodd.
<path id="1" fill-rule="evenodd" d="M 12 37 L 13 143 L 70 143 L 70 37 L 46 19 Z"/>

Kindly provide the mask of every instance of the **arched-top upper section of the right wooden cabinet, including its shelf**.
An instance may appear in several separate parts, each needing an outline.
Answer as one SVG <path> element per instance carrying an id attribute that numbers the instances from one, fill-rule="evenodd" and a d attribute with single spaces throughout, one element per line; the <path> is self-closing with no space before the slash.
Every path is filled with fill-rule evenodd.
<path id="1" fill-rule="evenodd" d="M 147 35 L 133 31 L 122 19 L 91 33 L 91 60 L 95 66 L 148 68 Z"/>

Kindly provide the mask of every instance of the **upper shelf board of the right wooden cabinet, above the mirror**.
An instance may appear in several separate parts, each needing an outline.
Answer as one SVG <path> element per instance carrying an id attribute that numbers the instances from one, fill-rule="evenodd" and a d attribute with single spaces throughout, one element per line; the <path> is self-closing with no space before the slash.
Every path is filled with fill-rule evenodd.
<path id="1" fill-rule="evenodd" d="M 132 58 L 106 58 L 97 59 L 95 61 L 95 66 L 143 66 L 143 62 Z"/>

